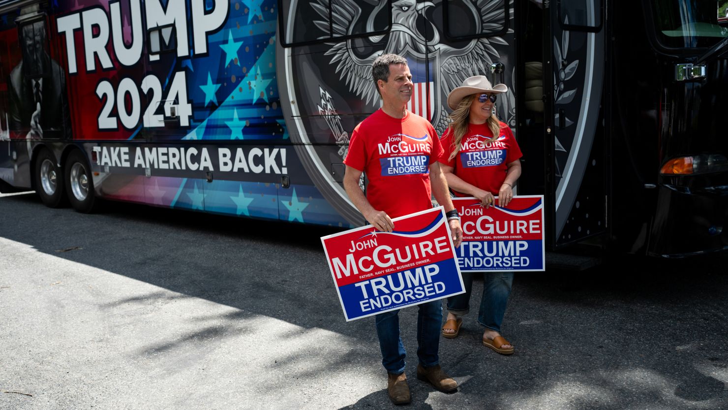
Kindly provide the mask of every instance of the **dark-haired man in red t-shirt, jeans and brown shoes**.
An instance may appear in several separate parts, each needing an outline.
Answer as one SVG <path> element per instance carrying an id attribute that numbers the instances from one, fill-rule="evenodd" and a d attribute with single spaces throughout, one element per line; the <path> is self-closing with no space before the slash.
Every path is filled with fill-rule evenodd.
<path id="1" fill-rule="evenodd" d="M 344 189 L 364 218 L 376 229 L 392 232 L 392 218 L 432 208 L 431 193 L 445 207 L 455 246 L 462 241 L 462 229 L 448 194 L 445 176 L 440 173 L 438 157 L 443 149 L 430 122 L 407 110 L 414 84 L 407 60 L 399 55 L 381 55 L 372 64 L 381 109 L 354 129 L 349 153 L 344 160 Z M 389 160 L 397 158 L 397 161 Z M 412 166 L 392 166 L 392 164 Z M 359 179 L 367 173 L 366 197 Z M 457 382 L 440 368 L 438 349 L 442 304 L 419 304 L 417 319 L 417 378 L 435 389 L 448 392 Z M 376 315 L 381 363 L 387 369 L 387 393 L 395 404 L 410 402 L 405 375 L 405 348 L 400 338 L 399 310 Z"/>

